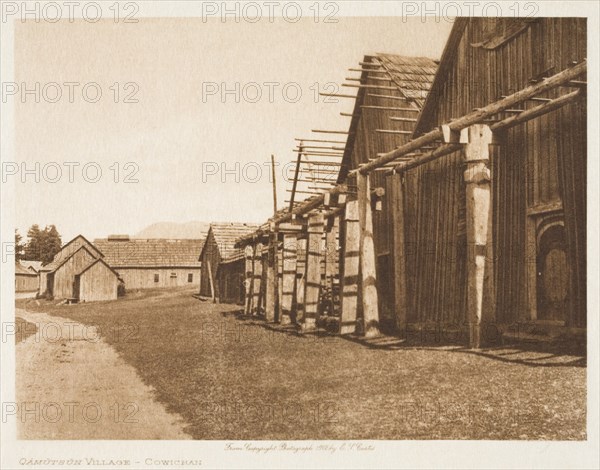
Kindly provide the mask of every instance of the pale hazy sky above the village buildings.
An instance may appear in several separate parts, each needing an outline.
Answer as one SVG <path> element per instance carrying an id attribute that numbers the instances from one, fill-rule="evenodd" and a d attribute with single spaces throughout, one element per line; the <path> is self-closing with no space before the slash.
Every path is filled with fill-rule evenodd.
<path id="1" fill-rule="evenodd" d="M 270 155 L 282 167 L 295 158 L 294 137 L 311 138 L 313 128 L 348 128 L 349 118 L 339 113 L 351 112 L 353 101 L 315 102 L 315 84 L 323 89 L 356 76 L 347 69 L 367 53 L 439 58 L 451 26 L 377 17 L 340 18 L 337 24 L 310 19 L 224 24 L 197 18 L 16 23 L 15 81 L 45 86 L 40 103 L 27 95 L 25 103 L 15 104 L 16 158 L 29 169 L 39 162 L 46 180 L 58 180 L 36 183 L 31 175 L 17 184 L 17 226 L 25 234 L 33 223 L 53 223 L 67 241 L 78 233 L 133 234 L 159 221 L 263 222 L 273 208 Z M 52 82 L 60 84 L 60 99 L 57 88 L 47 85 Z M 128 82 L 135 85 L 125 89 Z M 90 83 L 97 86 L 88 86 L 84 99 L 83 85 Z M 223 84 L 235 90 L 236 83 L 239 102 L 235 92 L 221 94 Z M 89 102 L 98 87 L 102 97 Z M 125 103 L 136 88 L 138 102 Z M 209 89 L 217 93 L 203 96 Z M 257 102 L 244 100 L 244 91 Z M 221 164 L 231 173 L 219 171 L 203 181 L 206 170 Z M 102 176 L 90 182 L 97 168 Z M 138 182 L 125 183 L 136 168 Z M 278 177 L 281 206 L 290 185 L 281 171 Z"/>

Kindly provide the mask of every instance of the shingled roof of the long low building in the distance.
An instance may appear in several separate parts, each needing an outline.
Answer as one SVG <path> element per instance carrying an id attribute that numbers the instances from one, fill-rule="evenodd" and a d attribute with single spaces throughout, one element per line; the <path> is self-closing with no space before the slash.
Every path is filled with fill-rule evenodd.
<path id="1" fill-rule="evenodd" d="M 104 253 L 104 261 L 113 268 L 200 267 L 198 253 L 204 240 L 134 238 L 130 240 L 94 240 Z"/>

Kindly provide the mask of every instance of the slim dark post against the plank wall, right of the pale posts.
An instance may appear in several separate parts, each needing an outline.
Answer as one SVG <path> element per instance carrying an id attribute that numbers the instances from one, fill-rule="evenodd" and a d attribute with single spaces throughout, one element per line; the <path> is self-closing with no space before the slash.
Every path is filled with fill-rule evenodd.
<path id="1" fill-rule="evenodd" d="M 391 188 L 394 263 L 394 309 L 398 331 L 406 331 L 406 252 L 404 238 L 404 175 L 393 175 Z"/>

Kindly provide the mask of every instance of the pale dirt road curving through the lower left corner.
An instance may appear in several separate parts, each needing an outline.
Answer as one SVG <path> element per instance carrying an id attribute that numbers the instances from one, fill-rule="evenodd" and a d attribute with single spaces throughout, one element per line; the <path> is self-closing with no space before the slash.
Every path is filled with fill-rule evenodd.
<path id="1" fill-rule="evenodd" d="M 20 439 L 189 439 L 135 369 L 91 327 L 17 309 L 38 331 L 17 344 Z"/>

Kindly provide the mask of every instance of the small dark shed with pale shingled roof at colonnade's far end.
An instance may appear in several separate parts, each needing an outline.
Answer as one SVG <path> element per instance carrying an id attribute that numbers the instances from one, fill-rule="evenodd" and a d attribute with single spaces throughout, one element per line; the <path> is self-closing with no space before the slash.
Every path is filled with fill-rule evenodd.
<path id="1" fill-rule="evenodd" d="M 200 251 L 202 263 L 200 295 L 225 303 L 239 303 L 244 297 L 245 258 L 235 248 L 238 238 L 254 232 L 256 224 L 212 223 Z"/>

